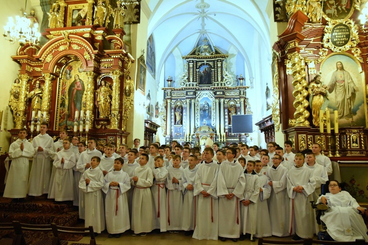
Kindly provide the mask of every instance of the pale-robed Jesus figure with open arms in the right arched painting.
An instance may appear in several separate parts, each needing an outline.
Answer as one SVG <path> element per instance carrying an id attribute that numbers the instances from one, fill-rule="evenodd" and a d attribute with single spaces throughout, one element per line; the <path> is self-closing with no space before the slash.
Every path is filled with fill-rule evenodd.
<path id="1" fill-rule="evenodd" d="M 335 91 L 336 107 L 339 112 L 339 119 L 353 118 L 353 107 L 355 102 L 356 93 L 359 91 L 355 86 L 353 79 L 349 72 L 344 70 L 344 66 L 341 61 L 336 63 L 336 71 L 332 73 L 330 83 L 323 87 L 328 90 L 329 93 Z"/>

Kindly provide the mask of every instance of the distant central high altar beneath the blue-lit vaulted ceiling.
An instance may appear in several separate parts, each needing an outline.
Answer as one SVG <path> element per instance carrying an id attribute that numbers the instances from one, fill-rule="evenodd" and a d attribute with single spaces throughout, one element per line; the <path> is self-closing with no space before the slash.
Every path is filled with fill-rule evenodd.
<path id="1" fill-rule="evenodd" d="M 243 77 L 235 84 L 227 72 L 228 55 L 208 45 L 207 39 L 203 42 L 183 57 L 179 86 L 172 87 L 169 77 L 163 88 L 166 143 L 177 140 L 204 146 L 208 138 L 221 144 L 246 142 L 244 134 L 232 133 L 231 116 L 252 114 L 248 87 Z"/>

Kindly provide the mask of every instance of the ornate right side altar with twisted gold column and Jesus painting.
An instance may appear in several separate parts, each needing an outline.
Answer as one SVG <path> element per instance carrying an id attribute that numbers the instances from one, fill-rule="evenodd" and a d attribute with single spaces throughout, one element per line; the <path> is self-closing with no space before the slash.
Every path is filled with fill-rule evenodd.
<path id="1" fill-rule="evenodd" d="M 368 155 L 368 43 L 357 18 L 367 1 L 336 13 L 327 2 L 286 0 L 288 27 L 273 46 L 282 130 L 296 151 L 319 143 L 332 158 Z"/>

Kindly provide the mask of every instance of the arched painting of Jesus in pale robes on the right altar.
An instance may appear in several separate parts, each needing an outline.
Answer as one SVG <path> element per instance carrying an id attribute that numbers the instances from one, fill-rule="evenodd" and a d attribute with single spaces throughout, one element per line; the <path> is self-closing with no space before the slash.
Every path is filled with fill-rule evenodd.
<path id="1" fill-rule="evenodd" d="M 367 125 L 364 74 L 359 61 L 349 54 L 333 53 L 321 64 L 321 88 L 330 110 L 331 127 L 338 111 L 339 127 Z"/>

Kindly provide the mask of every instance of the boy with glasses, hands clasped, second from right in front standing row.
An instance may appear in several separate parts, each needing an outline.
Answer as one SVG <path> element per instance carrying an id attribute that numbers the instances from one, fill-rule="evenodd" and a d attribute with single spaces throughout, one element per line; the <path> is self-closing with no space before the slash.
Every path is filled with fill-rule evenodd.
<path id="1" fill-rule="evenodd" d="M 282 157 L 274 154 L 272 157 L 272 167 L 266 176 L 270 179 L 268 185 L 271 186 L 269 198 L 269 214 L 271 219 L 272 235 L 278 237 L 289 236 L 289 196 L 286 190 L 288 169 L 281 165 Z"/>

